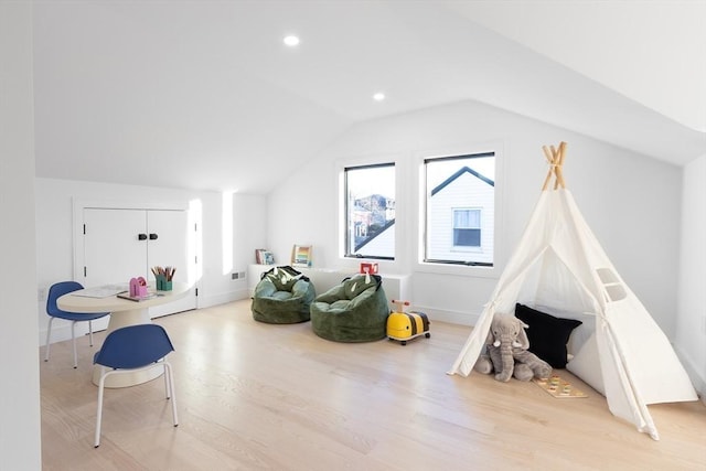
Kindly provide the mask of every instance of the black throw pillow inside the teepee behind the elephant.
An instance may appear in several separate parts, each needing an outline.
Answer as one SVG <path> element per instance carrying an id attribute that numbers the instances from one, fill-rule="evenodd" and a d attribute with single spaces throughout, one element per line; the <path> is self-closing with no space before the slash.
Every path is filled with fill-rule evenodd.
<path id="1" fill-rule="evenodd" d="M 530 325 L 526 330 L 530 352 L 550 364 L 553 368 L 565 368 L 568 353 L 566 344 L 574 329 L 582 322 L 555 318 L 521 303 L 515 304 L 515 317 Z"/>

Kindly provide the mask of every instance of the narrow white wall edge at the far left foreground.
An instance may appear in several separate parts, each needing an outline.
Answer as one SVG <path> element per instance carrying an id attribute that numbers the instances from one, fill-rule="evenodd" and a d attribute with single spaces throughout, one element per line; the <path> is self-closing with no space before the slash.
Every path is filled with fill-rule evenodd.
<path id="1" fill-rule="evenodd" d="M 0 2 L 0 468 L 40 470 L 30 2 Z"/>

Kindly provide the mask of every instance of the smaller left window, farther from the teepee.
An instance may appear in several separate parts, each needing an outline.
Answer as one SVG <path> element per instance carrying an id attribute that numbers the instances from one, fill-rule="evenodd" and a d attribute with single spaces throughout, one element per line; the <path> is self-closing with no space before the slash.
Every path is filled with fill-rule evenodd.
<path id="1" fill-rule="evenodd" d="M 345 256 L 395 258 L 395 164 L 344 169 Z"/>

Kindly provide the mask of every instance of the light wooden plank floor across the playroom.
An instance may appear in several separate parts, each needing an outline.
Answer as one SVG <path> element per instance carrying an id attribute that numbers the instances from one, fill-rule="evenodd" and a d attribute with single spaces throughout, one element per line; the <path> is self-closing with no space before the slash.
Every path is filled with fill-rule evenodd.
<path id="1" fill-rule="evenodd" d="M 161 378 L 107 389 L 93 448 L 94 349 L 41 362 L 44 470 L 706 470 L 706 407 L 650 406 L 661 440 L 602 396 L 556 399 L 533 383 L 445 372 L 469 328 L 432 322 L 406 346 L 344 344 L 309 322 L 253 321 L 249 300 L 154 322 L 169 332 L 180 425 Z M 99 345 L 104 333 L 96 335 Z M 40 355 L 43 358 L 43 355 Z"/>

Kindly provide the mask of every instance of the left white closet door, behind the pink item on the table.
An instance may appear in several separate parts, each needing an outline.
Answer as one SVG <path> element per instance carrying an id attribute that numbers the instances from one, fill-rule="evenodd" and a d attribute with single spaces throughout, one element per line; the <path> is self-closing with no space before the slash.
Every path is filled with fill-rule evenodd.
<path id="1" fill-rule="evenodd" d="M 147 278 L 147 213 L 142 210 L 84 208 L 86 288 Z"/>

